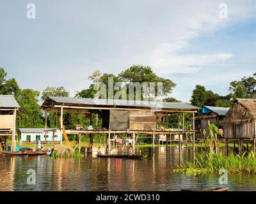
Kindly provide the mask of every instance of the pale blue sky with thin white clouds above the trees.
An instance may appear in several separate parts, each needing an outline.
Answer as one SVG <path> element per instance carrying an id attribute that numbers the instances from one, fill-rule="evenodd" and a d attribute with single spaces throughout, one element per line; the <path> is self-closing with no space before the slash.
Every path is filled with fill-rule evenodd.
<path id="1" fill-rule="evenodd" d="M 22 89 L 63 86 L 74 96 L 97 69 L 142 64 L 175 82 L 170 96 L 183 102 L 196 84 L 226 95 L 256 72 L 255 17 L 255 0 L 1 0 L 0 67 Z"/>

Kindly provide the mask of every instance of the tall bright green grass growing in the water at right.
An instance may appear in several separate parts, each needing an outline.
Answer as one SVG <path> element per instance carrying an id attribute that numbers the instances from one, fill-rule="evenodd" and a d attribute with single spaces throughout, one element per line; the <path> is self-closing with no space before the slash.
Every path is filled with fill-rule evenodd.
<path id="1" fill-rule="evenodd" d="M 243 156 L 232 154 L 224 156 L 222 153 L 201 152 L 195 157 L 195 164 L 185 162 L 177 166 L 174 172 L 198 175 L 202 173 L 219 173 L 220 170 L 227 170 L 228 173 L 256 173 L 256 156 L 253 152 Z"/>

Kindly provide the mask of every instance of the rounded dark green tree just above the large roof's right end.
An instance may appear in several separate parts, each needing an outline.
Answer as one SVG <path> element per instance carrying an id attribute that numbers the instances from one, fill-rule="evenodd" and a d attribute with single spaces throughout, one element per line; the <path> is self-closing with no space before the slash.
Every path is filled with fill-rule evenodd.
<path id="1" fill-rule="evenodd" d="M 190 100 L 192 105 L 202 107 L 204 106 L 206 100 L 207 92 L 205 91 L 205 87 L 202 85 L 196 85 Z"/>

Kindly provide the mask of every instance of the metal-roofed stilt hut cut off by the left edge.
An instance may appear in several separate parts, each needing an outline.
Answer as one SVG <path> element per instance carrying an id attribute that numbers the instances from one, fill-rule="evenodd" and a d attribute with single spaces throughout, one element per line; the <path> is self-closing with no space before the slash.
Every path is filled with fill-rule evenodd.
<path id="1" fill-rule="evenodd" d="M 12 95 L 0 95 L 0 140 L 6 149 L 6 137 L 12 135 L 12 150 L 16 150 L 16 114 L 19 104 Z"/>

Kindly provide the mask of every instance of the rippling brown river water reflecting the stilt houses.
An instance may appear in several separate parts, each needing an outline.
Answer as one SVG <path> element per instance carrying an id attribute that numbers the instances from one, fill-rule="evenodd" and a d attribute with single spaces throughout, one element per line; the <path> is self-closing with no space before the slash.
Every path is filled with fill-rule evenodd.
<path id="1" fill-rule="evenodd" d="M 256 175 L 173 173 L 182 161 L 191 161 L 191 149 L 136 148 L 146 159 L 97 158 L 51 159 L 44 156 L 0 156 L 0 191 L 180 191 L 184 188 L 229 187 L 230 191 L 255 191 Z M 35 170 L 35 184 L 28 184 L 28 170 Z"/>

